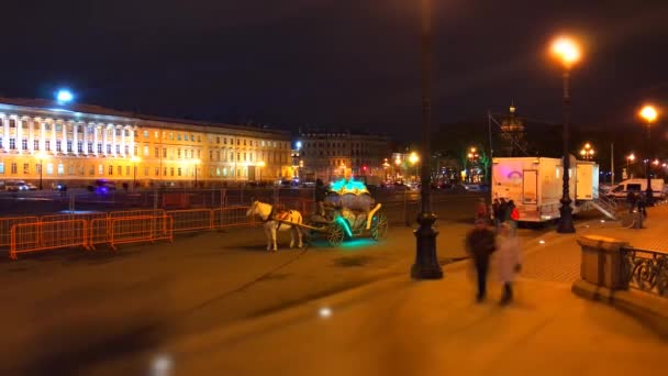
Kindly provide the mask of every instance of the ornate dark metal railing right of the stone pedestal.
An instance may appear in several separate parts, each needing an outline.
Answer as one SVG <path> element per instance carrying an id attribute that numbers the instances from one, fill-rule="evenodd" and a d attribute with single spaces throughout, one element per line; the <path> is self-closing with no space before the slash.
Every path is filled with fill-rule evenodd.
<path id="1" fill-rule="evenodd" d="M 622 248 L 622 265 L 630 288 L 668 298 L 668 253 Z"/>

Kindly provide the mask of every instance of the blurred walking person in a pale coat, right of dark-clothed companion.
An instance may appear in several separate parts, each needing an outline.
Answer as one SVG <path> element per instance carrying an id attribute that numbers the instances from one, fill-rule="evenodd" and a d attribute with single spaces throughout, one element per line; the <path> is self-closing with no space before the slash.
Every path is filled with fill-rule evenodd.
<path id="1" fill-rule="evenodd" d="M 513 281 L 515 275 L 522 268 L 520 240 L 512 232 L 510 223 L 503 223 L 499 228 L 497 236 L 497 261 L 499 268 L 499 280 L 503 284 L 503 292 L 500 303 L 508 305 L 513 299 Z"/>

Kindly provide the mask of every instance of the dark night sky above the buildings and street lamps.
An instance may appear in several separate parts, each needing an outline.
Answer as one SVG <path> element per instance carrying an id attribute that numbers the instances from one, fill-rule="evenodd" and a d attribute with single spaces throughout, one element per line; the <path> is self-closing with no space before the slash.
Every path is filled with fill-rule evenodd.
<path id="1" fill-rule="evenodd" d="M 631 126 L 668 99 L 668 1 L 434 1 L 434 122 L 485 119 L 511 100 L 560 120 L 546 51 L 580 35 L 574 122 Z M 417 0 L 7 1 L 0 92 L 144 113 L 413 136 Z"/>

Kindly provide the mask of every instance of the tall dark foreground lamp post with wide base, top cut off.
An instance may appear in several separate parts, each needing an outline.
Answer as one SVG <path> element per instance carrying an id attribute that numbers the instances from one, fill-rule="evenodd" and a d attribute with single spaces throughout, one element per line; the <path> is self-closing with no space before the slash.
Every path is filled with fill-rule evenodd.
<path id="1" fill-rule="evenodd" d="M 432 176 L 431 176 L 431 69 L 432 69 L 432 0 L 422 0 L 422 187 L 420 190 L 421 211 L 417 214 L 420 226 L 415 234 L 415 263 L 411 267 L 411 276 L 417 279 L 443 278 L 443 270 L 436 256 L 436 236 L 434 230 L 436 214 L 432 211 Z"/>

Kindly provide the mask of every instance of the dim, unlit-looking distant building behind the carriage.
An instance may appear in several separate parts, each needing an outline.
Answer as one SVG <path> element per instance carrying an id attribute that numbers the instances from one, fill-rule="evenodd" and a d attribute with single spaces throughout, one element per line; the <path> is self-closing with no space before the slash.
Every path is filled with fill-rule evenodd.
<path id="1" fill-rule="evenodd" d="M 301 178 L 332 181 L 346 172 L 358 177 L 383 177 L 390 156 L 388 137 L 353 132 L 307 131 L 297 141 Z"/>

